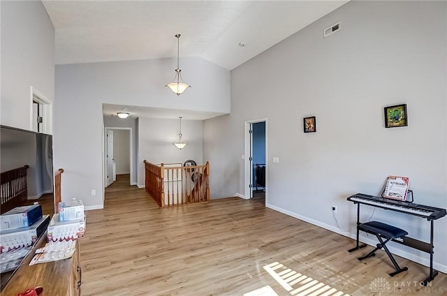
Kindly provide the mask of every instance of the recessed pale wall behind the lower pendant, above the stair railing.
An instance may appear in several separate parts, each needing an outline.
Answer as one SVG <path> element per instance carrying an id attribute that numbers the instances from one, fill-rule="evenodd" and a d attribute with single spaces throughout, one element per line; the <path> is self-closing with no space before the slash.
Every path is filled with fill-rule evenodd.
<path id="1" fill-rule="evenodd" d="M 145 186 L 145 160 L 159 164 L 184 163 L 192 159 L 204 165 L 202 126 L 201 120 L 182 119 L 183 140 L 188 145 L 179 150 L 174 145 L 179 139 L 179 119 L 138 119 L 138 187 Z"/>

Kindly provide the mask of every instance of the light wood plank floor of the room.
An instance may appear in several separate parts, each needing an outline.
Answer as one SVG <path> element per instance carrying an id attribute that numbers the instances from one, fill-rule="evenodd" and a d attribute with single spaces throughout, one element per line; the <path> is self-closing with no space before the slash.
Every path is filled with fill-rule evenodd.
<path id="1" fill-rule="evenodd" d="M 384 251 L 360 262 L 356 258 L 372 247 L 348 253 L 352 239 L 263 202 L 225 198 L 159 209 L 144 189 L 119 184 L 106 188 L 104 209 L 87 211 L 80 240 L 83 296 L 243 295 L 264 286 L 291 295 L 263 269 L 272 262 L 285 266 L 277 272 L 288 267 L 341 295 L 380 295 L 372 289 L 377 279 L 389 285 L 383 296 L 446 295 L 446 274 L 420 287 L 427 267 L 397 257 L 409 271 L 391 278 Z"/>

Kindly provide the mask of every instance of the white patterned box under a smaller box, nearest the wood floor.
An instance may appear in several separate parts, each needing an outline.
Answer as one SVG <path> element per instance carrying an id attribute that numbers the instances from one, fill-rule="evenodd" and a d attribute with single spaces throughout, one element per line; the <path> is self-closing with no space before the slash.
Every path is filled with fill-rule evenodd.
<path id="1" fill-rule="evenodd" d="M 48 225 L 48 241 L 77 239 L 85 235 L 85 217 L 82 219 L 59 222 L 59 214 L 54 214 Z"/>

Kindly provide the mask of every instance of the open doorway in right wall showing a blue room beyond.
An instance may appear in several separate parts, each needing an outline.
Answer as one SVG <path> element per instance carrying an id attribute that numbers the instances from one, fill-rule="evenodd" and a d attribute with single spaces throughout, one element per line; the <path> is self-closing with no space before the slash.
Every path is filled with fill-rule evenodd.
<path id="1" fill-rule="evenodd" d="M 267 203 L 267 118 L 245 121 L 244 196 Z"/>

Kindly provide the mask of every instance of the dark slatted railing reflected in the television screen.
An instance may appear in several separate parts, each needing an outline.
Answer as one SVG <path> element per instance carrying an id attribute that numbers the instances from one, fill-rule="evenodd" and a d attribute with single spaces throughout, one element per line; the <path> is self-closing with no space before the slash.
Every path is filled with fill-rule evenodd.
<path id="1" fill-rule="evenodd" d="M 27 169 L 29 165 L 0 174 L 0 214 L 19 207 L 28 199 Z"/>

